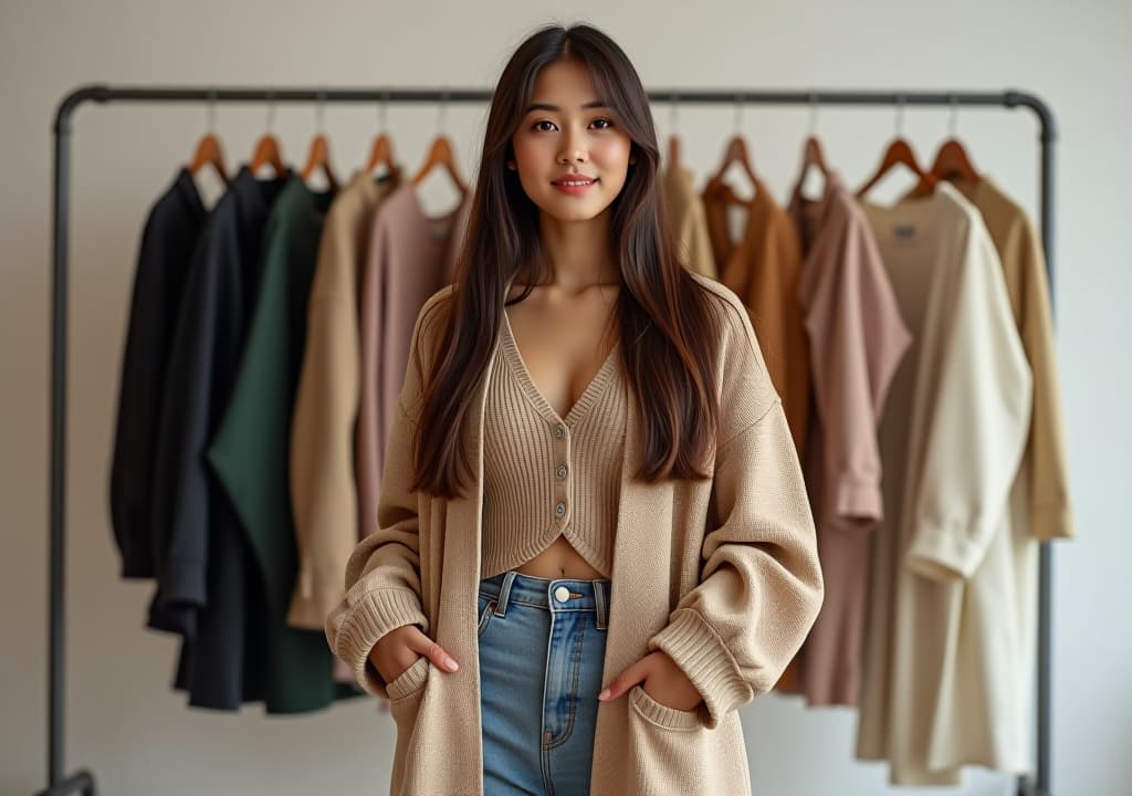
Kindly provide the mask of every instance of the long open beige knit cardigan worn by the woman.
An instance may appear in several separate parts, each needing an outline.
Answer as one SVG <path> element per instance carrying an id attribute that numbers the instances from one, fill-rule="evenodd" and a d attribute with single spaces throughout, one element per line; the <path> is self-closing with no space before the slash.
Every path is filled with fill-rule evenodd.
<path id="1" fill-rule="evenodd" d="M 721 299 L 723 318 L 713 478 L 636 480 L 644 440 L 640 410 L 629 401 L 603 683 L 663 649 L 704 703 L 695 711 L 675 710 L 638 686 L 602 703 L 593 796 L 749 793 L 736 709 L 774 684 L 822 601 L 800 467 L 749 319 L 732 292 L 693 277 Z M 349 590 L 326 619 L 332 649 L 359 683 L 375 696 L 392 697 L 393 794 L 483 790 L 474 627 L 489 379 L 461 429 L 475 476 L 471 491 L 447 500 L 406 488 L 421 374 L 437 356 L 437 310 L 448 292 L 432 297 L 418 318 L 388 438 L 379 529 L 351 556 Z M 497 343 L 488 374 L 498 356 Z M 436 671 L 422 659 L 383 683 L 367 657 L 384 633 L 410 623 L 451 652 L 460 670 Z"/>

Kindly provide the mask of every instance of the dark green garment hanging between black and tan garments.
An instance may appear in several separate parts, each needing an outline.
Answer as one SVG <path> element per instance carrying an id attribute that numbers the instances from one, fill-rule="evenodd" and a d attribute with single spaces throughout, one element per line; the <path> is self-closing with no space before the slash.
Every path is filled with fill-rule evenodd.
<path id="1" fill-rule="evenodd" d="M 335 683 L 325 634 L 286 624 L 299 568 L 288 476 L 291 414 L 307 299 L 332 198 L 293 176 L 272 206 L 239 375 L 207 454 L 247 533 L 266 590 L 268 713 L 318 710 L 359 694 L 351 685 Z"/>

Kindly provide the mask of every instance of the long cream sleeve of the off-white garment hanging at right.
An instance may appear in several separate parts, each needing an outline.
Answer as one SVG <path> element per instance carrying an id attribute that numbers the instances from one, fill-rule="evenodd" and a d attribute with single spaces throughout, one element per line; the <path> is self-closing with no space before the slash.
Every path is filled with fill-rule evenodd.
<path id="1" fill-rule="evenodd" d="M 1003 515 L 1030 427 L 1031 375 L 998 255 L 972 219 L 937 324 L 908 565 L 933 580 L 975 574 Z"/>

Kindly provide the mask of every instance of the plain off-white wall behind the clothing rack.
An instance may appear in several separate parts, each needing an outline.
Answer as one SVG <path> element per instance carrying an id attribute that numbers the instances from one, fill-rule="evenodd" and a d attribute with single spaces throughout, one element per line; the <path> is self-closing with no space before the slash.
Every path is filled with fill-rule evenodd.
<path id="1" fill-rule="evenodd" d="M 46 683 L 46 443 L 51 153 L 58 101 L 78 84 L 490 86 L 511 48 L 550 19 L 588 19 L 628 51 L 649 86 L 1030 89 L 1057 113 L 1058 348 L 1079 541 L 1056 549 L 1055 793 L 1132 789 L 1127 489 L 1132 397 L 1124 305 L 1132 29 L 1120 0 L 950 3 L 480 2 L 0 5 L 0 791 L 43 785 Z M 471 173 L 482 108 L 454 108 L 448 130 Z M 250 152 L 261 105 L 222 106 L 232 163 Z M 663 129 L 664 106 L 657 109 Z M 190 155 L 200 106 L 101 108 L 76 118 L 71 216 L 68 485 L 69 768 L 94 768 L 113 794 L 383 793 L 392 722 L 371 703 L 266 719 L 190 711 L 168 687 L 174 641 L 143 630 L 149 585 L 122 582 L 106 490 L 132 260 L 145 211 Z M 687 161 L 714 168 L 732 109 L 680 112 Z M 781 196 L 808 112 L 747 109 L 756 168 Z M 889 110 L 824 109 L 820 131 L 851 185 L 893 131 Z M 402 159 L 420 162 L 432 108 L 393 108 Z M 326 111 L 345 172 L 365 157 L 372 108 Z M 277 130 L 299 160 L 309 106 L 282 106 Z M 923 157 L 946 111 L 910 110 Z M 1031 209 L 1036 125 L 1024 112 L 970 110 L 959 129 L 976 163 Z M 890 191 L 899 186 L 890 183 Z M 443 192 L 434 203 L 444 203 Z M 883 196 L 883 194 L 882 194 Z M 1124 365 L 1120 365 L 1124 362 Z M 897 794 L 881 765 L 852 760 L 854 718 L 771 696 L 745 709 L 756 791 Z M 1004 796 L 1010 780 L 974 772 L 962 793 Z"/>

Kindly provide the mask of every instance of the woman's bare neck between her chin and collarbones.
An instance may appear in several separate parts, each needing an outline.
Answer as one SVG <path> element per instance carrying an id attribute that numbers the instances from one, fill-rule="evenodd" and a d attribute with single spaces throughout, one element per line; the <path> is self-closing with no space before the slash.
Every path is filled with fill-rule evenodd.
<path id="1" fill-rule="evenodd" d="M 542 256 L 550 267 L 550 284 L 583 290 L 620 282 L 620 269 L 609 245 L 608 209 L 588 221 L 561 221 L 542 213 L 539 228 Z"/>

